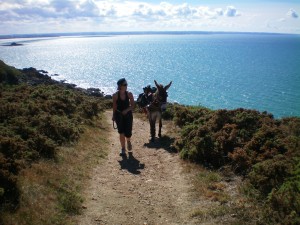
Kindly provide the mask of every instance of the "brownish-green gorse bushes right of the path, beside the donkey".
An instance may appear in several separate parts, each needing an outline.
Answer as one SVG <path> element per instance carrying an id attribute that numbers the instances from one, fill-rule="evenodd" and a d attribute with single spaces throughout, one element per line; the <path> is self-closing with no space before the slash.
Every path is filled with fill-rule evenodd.
<path id="1" fill-rule="evenodd" d="M 272 222 L 299 222 L 300 118 L 182 106 L 174 114 L 182 128 L 176 146 L 184 159 L 213 168 L 230 165 L 259 191 L 273 210 Z"/>

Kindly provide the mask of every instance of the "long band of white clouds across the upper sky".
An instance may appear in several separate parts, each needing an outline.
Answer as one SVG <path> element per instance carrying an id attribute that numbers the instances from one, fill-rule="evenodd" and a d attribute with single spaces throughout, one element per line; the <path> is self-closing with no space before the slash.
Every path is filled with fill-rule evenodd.
<path id="1" fill-rule="evenodd" d="M 99 0 L 11 0 L 10 3 L 0 3 L 0 11 L 11 15 L 3 21 L 40 18 L 80 18 L 80 17 L 114 17 L 128 19 L 199 19 L 223 16 L 221 8 L 210 9 L 190 4 L 171 4 L 162 2 L 150 4 L 130 1 L 99 1 Z M 239 15 L 237 9 L 228 6 L 225 15 Z"/>

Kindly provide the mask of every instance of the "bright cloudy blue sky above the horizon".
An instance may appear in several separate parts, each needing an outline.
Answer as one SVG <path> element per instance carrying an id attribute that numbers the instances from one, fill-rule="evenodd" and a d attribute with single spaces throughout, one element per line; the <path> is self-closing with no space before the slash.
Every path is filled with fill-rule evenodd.
<path id="1" fill-rule="evenodd" d="M 0 35 L 102 31 L 300 34 L 300 0 L 0 0 Z"/>

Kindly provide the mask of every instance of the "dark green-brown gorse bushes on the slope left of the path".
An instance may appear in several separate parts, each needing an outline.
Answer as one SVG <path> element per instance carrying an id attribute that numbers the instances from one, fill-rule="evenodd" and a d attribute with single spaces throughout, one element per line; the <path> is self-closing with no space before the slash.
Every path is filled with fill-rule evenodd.
<path id="1" fill-rule="evenodd" d="M 36 70 L 28 70 L 36 73 Z M 37 74 L 36 77 L 42 77 Z M 84 124 L 104 109 L 99 98 L 59 84 L 19 82 L 26 74 L 0 61 L 0 207 L 16 207 L 24 166 L 53 159 L 57 147 L 76 142 Z M 26 80 L 26 79 L 25 79 Z M 49 80 L 49 78 L 47 78 Z"/>

